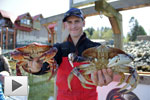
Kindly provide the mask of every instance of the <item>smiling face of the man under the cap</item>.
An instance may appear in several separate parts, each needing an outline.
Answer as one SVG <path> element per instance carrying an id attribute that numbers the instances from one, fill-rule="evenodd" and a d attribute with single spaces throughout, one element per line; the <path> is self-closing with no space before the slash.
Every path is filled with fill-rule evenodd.
<path id="1" fill-rule="evenodd" d="M 70 16 L 65 22 L 65 27 L 68 29 L 71 37 L 79 37 L 83 33 L 85 22 L 76 16 Z"/>

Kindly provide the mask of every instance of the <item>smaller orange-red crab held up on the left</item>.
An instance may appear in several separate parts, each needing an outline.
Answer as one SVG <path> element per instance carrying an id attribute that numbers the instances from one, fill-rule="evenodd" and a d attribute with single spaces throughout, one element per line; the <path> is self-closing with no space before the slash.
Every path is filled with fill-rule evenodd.
<path id="1" fill-rule="evenodd" d="M 17 61 L 16 63 L 16 74 L 18 76 L 21 75 L 20 66 L 28 72 L 28 73 L 34 73 L 33 68 L 28 66 L 28 62 L 32 61 L 33 58 L 39 58 L 38 61 L 47 62 L 49 64 L 49 71 L 51 72 L 51 76 L 56 72 L 57 70 L 57 63 L 54 60 L 54 56 L 57 53 L 57 48 L 39 44 L 36 42 L 33 42 L 29 45 L 16 48 L 14 52 L 11 53 L 11 57 L 13 60 Z"/>

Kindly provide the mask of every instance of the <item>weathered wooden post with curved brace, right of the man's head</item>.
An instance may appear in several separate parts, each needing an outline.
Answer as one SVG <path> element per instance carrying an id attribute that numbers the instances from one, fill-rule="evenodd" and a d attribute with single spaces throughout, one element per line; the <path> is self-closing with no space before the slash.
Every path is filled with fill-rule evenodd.
<path id="1" fill-rule="evenodd" d="M 98 0 L 95 2 L 95 10 L 102 12 L 109 18 L 113 32 L 114 32 L 114 44 L 116 48 L 123 49 L 122 45 L 122 16 L 105 0 Z"/>

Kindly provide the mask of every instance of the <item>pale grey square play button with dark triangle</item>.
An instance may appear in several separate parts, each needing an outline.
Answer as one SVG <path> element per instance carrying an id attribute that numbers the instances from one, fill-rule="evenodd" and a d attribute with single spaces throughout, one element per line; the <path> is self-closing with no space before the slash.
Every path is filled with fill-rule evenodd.
<path id="1" fill-rule="evenodd" d="M 28 77 L 27 76 L 6 76 L 4 78 L 5 96 L 27 96 Z"/>

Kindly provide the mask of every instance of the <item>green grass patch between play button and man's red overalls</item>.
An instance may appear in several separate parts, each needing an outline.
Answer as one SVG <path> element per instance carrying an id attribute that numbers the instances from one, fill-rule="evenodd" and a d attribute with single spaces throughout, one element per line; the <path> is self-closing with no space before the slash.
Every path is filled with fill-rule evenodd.
<path id="1" fill-rule="evenodd" d="M 29 76 L 29 97 L 28 100 L 48 100 L 54 96 L 54 79 L 48 81 L 49 74 Z"/>

